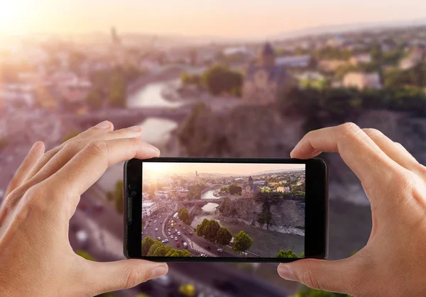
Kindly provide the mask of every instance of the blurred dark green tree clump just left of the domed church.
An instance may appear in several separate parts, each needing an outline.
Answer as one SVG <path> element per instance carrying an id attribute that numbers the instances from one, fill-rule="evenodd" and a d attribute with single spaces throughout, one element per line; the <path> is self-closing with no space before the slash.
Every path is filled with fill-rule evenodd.
<path id="1" fill-rule="evenodd" d="M 241 94 L 243 75 L 226 67 L 215 65 L 202 74 L 201 83 L 209 93 L 215 96 L 223 93 L 238 95 Z"/>

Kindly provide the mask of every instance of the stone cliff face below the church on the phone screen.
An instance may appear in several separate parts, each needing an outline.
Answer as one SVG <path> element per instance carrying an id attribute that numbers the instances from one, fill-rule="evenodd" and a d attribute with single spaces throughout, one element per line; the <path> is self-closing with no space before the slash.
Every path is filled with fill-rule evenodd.
<path id="1" fill-rule="evenodd" d="M 233 224 L 253 225 L 257 228 L 272 231 L 305 235 L 305 203 L 302 201 L 283 200 L 271 204 L 271 222 L 266 224 L 257 222 L 258 214 L 263 211 L 263 203 L 249 198 L 224 200 L 217 208 L 215 218 Z"/>

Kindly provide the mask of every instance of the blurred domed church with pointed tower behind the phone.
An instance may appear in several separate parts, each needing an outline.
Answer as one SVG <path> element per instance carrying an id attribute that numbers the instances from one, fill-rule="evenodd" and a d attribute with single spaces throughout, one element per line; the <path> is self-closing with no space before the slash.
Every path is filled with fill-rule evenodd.
<path id="1" fill-rule="evenodd" d="M 278 100 L 296 80 L 285 67 L 275 64 L 275 50 L 271 43 L 263 45 L 257 63 L 246 70 L 243 85 L 243 99 L 246 103 L 267 105 Z"/>

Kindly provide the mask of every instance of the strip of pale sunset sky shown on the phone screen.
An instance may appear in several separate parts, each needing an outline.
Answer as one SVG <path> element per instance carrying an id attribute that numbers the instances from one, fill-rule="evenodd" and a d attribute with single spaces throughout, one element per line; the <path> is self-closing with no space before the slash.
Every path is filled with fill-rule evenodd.
<path id="1" fill-rule="evenodd" d="M 190 173 L 195 171 L 212 174 L 238 174 L 248 175 L 268 170 L 305 169 L 305 164 L 231 164 L 231 163 L 168 163 L 168 162 L 143 162 L 143 168 L 151 169 L 158 173 Z"/>

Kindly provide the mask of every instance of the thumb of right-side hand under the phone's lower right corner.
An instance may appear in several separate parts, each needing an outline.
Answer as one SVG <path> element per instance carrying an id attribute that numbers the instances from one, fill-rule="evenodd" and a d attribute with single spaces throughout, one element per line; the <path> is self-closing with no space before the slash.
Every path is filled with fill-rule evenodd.
<path id="1" fill-rule="evenodd" d="M 299 281 L 310 288 L 337 293 L 353 293 L 358 285 L 357 265 L 353 257 L 326 261 L 303 259 L 278 266 L 278 274 L 289 281 Z"/>

